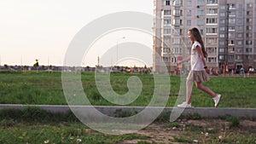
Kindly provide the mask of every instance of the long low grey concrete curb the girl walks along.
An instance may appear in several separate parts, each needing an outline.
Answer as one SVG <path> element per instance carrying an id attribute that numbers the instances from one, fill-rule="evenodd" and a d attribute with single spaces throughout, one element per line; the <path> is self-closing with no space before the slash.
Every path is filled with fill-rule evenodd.
<path id="1" fill-rule="evenodd" d="M 52 113 L 66 113 L 70 112 L 70 108 L 96 108 L 98 111 L 113 116 L 116 112 L 141 112 L 145 107 L 108 107 L 108 106 L 63 106 L 63 105 L 9 105 L 0 104 L 0 110 L 3 109 L 20 109 L 24 110 L 26 107 L 39 107 L 47 112 Z M 161 107 L 150 107 L 161 108 Z M 177 108 L 177 107 L 176 107 Z M 165 107 L 162 114 L 167 114 L 166 117 L 170 117 L 170 113 L 174 107 Z M 201 118 L 219 118 L 222 116 L 230 115 L 238 118 L 256 118 L 256 108 L 225 108 L 225 107 L 193 107 L 186 108 L 182 115 L 199 114 Z"/>

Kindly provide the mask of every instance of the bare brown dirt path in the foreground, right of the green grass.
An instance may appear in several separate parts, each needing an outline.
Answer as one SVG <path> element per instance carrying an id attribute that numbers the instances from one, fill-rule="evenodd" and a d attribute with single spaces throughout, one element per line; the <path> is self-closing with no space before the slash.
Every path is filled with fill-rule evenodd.
<path id="1" fill-rule="evenodd" d="M 220 120 L 220 119 L 214 119 L 214 120 L 188 120 L 188 121 L 180 121 L 177 124 L 180 125 L 179 128 L 176 128 L 175 126 L 172 127 L 170 123 L 154 123 L 148 125 L 147 128 L 143 130 L 137 131 L 137 134 L 139 135 L 145 135 L 149 138 L 146 140 L 127 140 L 127 141 L 121 141 L 118 144 L 137 144 L 139 141 L 147 141 L 148 143 L 161 143 L 161 144 L 179 144 L 183 142 L 177 142 L 174 140 L 174 137 L 180 137 L 188 130 L 185 130 L 186 125 L 195 125 L 198 127 L 206 128 L 207 130 L 216 130 L 216 131 L 222 131 L 224 129 L 229 130 L 229 122 Z M 243 120 L 240 122 L 239 131 L 246 131 L 247 128 L 256 128 L 256 121 L 249 121 L 249 120 Z M 208 133 L 203 132 L 197 132 L 200 133 L 201 136 L 209 137 Z M 197 135 L 198 136 L 198 135 Z M 220 138 L 217 135 L 218 138 Z M 194 137 L 190 137 L 190 140 L 193 140 L 193 143 L 200 143 L 198 140 L 194 140 Z M 217 138 L 217 139 L 218 139 Z M 206 139 L 207 140 L 207 139 Z M 256 141 L 255 141 L 256 143 Z"/>

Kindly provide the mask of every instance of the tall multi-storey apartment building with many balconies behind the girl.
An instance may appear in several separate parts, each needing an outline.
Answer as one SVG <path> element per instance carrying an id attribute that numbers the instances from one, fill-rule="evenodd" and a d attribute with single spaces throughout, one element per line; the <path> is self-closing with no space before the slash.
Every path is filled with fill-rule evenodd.
<path id="1" fill-rule="evenodd" d="M 154 16 L 154 72 L 160 61 L 174 72 L 189 55 L 192 27 L 201 31 L 208 67 L 256 68 L 256 0 L 154 0 Z"/>

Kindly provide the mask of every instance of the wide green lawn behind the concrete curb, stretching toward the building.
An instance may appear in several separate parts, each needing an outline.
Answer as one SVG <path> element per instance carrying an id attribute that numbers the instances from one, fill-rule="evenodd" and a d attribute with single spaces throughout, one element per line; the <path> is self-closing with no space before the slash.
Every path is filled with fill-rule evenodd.
<path id="1" fill-rule="evenodd" d="M 154 77 L 148 74 L 112 73 L 110 82 L 119 95 L 127 93 L 127 80 L 136 76 L 143 83 L 142 93 L 129 106 L 147 106 L 154 94 Z M 96 88 L 94 72 L 82 72 L 81 79 L 90 103 L 96 106 L 112 106 Z M 167 107 L 173 107 L 179 94 L 181 78 L 170 76 L 171 90 Z M 256 107 L 256 78 L 212 77 L 204 83 L 223 95 L 219 107 Z M 61 85 L 61 72 L 0 72 L 1 104 L 67 105 Z M 185 90 L 184 88 L 182 90 Z M 213 107 L 211 96 L 193 88 L 194 107 Z"/>

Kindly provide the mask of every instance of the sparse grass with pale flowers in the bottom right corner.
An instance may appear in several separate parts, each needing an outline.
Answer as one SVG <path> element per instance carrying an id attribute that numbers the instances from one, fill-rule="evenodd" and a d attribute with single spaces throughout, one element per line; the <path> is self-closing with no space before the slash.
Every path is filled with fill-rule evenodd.
<path id="1" fill-rule="evenodd" d="M 229 117 L 227 117 L 229 118 Z M 199 143 L 255 143 L 255 126 L 234 126 L 218 124 L 220 121 L 209 120 L 211 124 L 204 126 L 195 124 L 186 124 L 183 135 L 175 137 L 174 141 L 193 143 L 193 140 Z M 230 122 L 233 123 L 233 122 Z"/>

